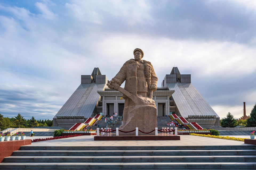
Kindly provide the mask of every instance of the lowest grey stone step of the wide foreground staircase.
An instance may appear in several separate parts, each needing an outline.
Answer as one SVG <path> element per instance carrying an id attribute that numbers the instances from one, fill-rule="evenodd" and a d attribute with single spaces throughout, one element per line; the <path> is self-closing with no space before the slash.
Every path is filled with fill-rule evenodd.
<path id="1" fill-rule="evenodd" d="M 1 163 L 0 169 L 256 169 L 256 162 Z"/>

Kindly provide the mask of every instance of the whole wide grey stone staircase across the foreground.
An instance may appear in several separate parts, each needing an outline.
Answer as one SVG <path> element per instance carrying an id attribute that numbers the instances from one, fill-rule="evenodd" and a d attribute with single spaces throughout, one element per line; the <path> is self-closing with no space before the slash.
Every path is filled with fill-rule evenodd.
<path id="1" fill-rule="evenodd" d="M 22 146 L 0 169 L 256 169 L 256 146 Z"/>

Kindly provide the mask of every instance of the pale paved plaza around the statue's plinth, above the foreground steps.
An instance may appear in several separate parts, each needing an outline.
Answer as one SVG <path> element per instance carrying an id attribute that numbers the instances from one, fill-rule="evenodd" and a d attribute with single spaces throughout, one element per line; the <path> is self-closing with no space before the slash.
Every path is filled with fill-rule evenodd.
<path id="1" fill-rule="evenodd" d="M 78 136 L 64 139 L 55 139 L 42 142 L 33 142 L 31 146 L 224 146 L 249 145 L 240 141 L 216 139 L 192 135 L 180 135 L 180 141 L 94 141 L 94 136 Z M 249 136 L 234 136 L 249 138 Z M 37 139 L 45 137 L 27 137 Z"/>

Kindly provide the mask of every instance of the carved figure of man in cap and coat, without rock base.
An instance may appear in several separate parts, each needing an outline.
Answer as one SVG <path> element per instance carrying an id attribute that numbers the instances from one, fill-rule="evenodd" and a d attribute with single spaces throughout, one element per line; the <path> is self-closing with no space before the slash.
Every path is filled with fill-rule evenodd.
<path id="1" fill-rule="evenodd" d="M 125 90 L 135 96 L 149 97 L 152 99 L 152 92 L 157 90 L 157 76 L 149 61 L 141 60 L 143 51 L 136 48 L 133 51 L 134 59 L 126 61 L 117 75 L 110 81 L 119 86 L 125 81 Z M 109 88 L 114 89 L 113 86 Z M 124 95 L 125 99 L 126 96 Z"/>

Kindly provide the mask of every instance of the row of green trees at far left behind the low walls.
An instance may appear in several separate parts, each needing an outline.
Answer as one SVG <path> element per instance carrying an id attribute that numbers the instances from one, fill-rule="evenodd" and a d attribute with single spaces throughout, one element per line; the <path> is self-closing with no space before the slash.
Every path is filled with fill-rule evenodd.
<path id="1" fill-rule="evenodd" d="M 31 119 L 25 119 L 21 114 L 18 113 L 15 117 L 3 117 L 0 114 L 0 129 L 4 130 L 7 128 L 34 128 L 37 126 L 53 126 L 53 120 L 36 120 L 34 116 Z"/>

